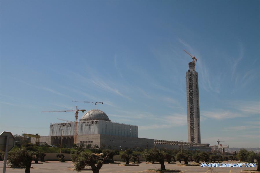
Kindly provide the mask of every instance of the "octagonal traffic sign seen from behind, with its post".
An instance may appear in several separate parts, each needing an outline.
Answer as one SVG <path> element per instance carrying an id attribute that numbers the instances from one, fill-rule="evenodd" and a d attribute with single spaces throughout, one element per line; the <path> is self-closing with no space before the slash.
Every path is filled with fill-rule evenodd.
<path id="1" fill-rule="evenodd" d="M 0 149 L 5 152 L 5 159 L 3 165 L 3 173 L 5 173 L 6 162 L 7 162 L 7 152 L 14 147 L 14 136 L 11 132 L 2 132 L 0 134 Z"/>

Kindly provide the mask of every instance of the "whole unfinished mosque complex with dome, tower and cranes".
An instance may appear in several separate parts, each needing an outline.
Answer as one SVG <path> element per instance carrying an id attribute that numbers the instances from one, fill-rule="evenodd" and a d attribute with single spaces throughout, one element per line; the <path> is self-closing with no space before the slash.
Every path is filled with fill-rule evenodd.
<path id="1" fill-rule="evenodd" d="M 224 148 L 228 148 L 228 145 L 222 146 L 220 144 L 222 141 L 218 140 L 216 146 L 201 144 L 198 72 L 195 70 L 195 62 L 198 59 L 187 51 L 185 52 L 193 59 L 192 62 L 189 62 L 189 69 L 186 72 L 188 142 L 139 138 L 138 126 L 112 122 L 104 111 L 97 109 L 97 104 L 103 104 L 103 102 L 74 101 L 95 104 L 95 109 L 86 111 L 86 109 L 78 109 L 76 106 L 75 110 L 42 111 L 45 113 L 75 112 L 75 121 L 58 118 L 63 122 L 51 123 L 48 136 L 38 138 L 31 136 L 32 143 L 39 142 L 54 146 L 66 144 L 69 147 L 74 144 L 78 146 L 81 144 L 84 146 L 88 144 L 106 145 L 114 149 L 131 148 L 133 150 L 156 146 L 164 149 L 224 152 Z M 84 114 L 78 121 L 79 113 Z"/>

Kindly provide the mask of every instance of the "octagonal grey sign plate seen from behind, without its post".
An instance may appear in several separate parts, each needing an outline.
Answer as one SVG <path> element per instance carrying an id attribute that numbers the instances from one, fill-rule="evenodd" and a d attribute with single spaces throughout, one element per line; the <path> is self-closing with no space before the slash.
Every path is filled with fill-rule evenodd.
<path id="1" fill-rule="evenodd" d="M 6 144 L 7 137 L 8 137 L 8 144 Z M 6 147 L 6 145 L 8 146 Z M 2 151 L 5 151 L 5 149 L 7 149 L 7 151 L 10 151 L 13 147 L 14 147 L 14 136 L 12 135 L 12 133 L 6 131 L 2 132 L 0 135 L 0 149 Z"/>

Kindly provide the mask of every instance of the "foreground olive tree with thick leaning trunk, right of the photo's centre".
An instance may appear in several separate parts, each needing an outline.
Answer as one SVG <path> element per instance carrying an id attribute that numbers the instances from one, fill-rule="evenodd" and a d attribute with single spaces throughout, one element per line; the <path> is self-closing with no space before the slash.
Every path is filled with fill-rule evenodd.
<path id="1" fill-rule="evenodd" d="M 163 152 L 159 151 L 157 148 L 151 148 L 144 152 L 144 157 L 147 161 L 158 161 L 161 164 L 161 170 L 166 171 L 164 165 L 165 155 Z"/>

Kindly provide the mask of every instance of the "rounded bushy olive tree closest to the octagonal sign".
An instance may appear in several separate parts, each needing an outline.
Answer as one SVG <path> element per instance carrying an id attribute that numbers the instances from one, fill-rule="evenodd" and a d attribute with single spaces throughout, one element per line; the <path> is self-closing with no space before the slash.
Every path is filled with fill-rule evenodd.
<path id="1" fill-rule="evenodd" d="M 26 148 L 16 148 L 8 152 L 8 164 L 11 168 L 25 168 L 25 173 L 30 173 L 32 160 L 34 159 L 33 152 L 26 150 Z"/>

